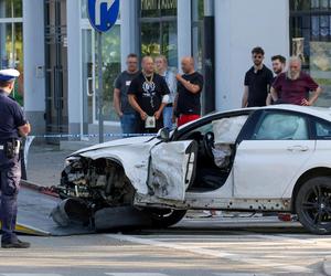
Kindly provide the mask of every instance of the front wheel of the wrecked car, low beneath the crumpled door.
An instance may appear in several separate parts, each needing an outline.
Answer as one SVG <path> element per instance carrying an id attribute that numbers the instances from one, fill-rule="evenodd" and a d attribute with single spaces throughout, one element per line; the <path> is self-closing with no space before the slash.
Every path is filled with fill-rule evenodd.
<path id="1" fill-rule="evenodd" d="M 186 210 L 171 209 L 148 209 L 152 226 L 158 229 L 167 229 L 180 222 L 186 214 Z"/>

